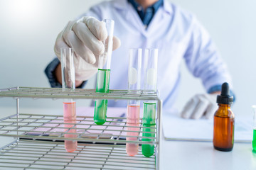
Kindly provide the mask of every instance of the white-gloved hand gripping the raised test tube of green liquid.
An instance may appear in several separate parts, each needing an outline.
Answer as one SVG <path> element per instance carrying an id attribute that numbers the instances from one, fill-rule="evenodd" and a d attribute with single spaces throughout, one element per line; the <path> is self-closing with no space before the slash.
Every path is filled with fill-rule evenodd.
<path id="1" fill-rule="evenodd" d="M 61 47 L 73 47 L 75 52 L 75 79 L 85 81 L 97 73 L 98 58 L 104 52 L 103 40 L 107 38 L 105 23 L 96 18 L 85 16 L 78 21 L 70 21 L 58 34 L 54 52 L 60 60 Z M 121 42 L 113 37 L 113 50 Z"/>

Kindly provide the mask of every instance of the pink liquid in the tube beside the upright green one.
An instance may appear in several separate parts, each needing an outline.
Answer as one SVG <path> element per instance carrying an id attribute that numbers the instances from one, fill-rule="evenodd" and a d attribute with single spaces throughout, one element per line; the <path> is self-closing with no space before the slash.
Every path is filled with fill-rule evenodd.
<path id="1" fill-rule="evenodd" d="M 127 136 L 134 136 L 134 137 L 127 137 L 127 140 L 138 140 L 139 132 L 129 132 L 129 131 L 139 131 L 139 106 L 129 105 L 128 108 L 128 115 L 127 115 L 127 126 L 134 126 L 128 127 Z M 136 128 L 138 127 L 138 128 Z M 129 156 L 135 156 L 139 151 L 139 144 L 135 143 L 127 143 L 126 144 L 126 151 Z"/>

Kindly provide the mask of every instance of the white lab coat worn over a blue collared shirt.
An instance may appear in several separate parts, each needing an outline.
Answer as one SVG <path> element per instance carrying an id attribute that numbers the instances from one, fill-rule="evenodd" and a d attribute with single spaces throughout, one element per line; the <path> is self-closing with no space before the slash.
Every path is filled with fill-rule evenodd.
<path id="1" fill-rule="evenodd" d="M 127 0 L 103 1 L 82 16 L 93 16 L 100 21 L 104 18 L 114 20 L 114 35 L 122 45 L 112 53 L 110 89 L 127 89 L 130 48 L 159 49 L 157 89 L 164 109 L 173 108 L 178 96 L 183 61 L 189 72 L 201 79 L 208 93 L 220 91 L 223 82 L 228 82 L 232 89 L 226 64 L 206 29 L 192 13 L 167 0 L 163 0 L 146 29 Z M 108 105 L 125 107 L 127 101 L 110 100 Z"/>

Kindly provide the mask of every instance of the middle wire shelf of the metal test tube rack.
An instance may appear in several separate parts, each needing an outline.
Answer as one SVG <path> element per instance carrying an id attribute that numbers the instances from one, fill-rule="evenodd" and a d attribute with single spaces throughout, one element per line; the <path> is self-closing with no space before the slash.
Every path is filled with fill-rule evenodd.
<path id="1" fill-rule="evenodd" d="M 96 125 L 93 117 L 78 116 L 76 123 L 64 123 L 63 115 L 38 115 L 20 113 L 18 118 L 11 115 L 1 119 L 0 135 L 10 137 L 21 137 L 32 140 L 78 140 L 80 142 L 112 143 L 114 145 L 127 142 L 139 144 L 158 143 L 156 137 L 145 137 L 152 142 L 142 141 L 142 123 L 137 126 L 127 125 L 126 118 L 107 118 L 104 125 Z M 140 121 L 142 122 L 142 120 Z M 68 125 L 69 128 L 66 128 Z M 137 130 L 129 130 L 136 128 Z M 156 136 L 156 128 L 154 133 Z M 137 132 L 138 136 L 128 136 L 127 132 Z M 145 133 L 145 132 L 144 132 Z M 64 137 L 71 134 L 75 137 Z M 137 137 L 137 140 L 125 140 L 126 137 Z"/>

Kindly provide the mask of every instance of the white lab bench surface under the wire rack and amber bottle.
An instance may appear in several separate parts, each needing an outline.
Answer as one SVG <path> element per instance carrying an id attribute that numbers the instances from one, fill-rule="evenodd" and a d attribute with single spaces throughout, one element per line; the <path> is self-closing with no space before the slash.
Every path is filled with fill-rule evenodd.
<path id="1" fill-rule="evenodd" d="M 124 91 L 120 91 L 118 93 L 123 92 Z M 92 94 L 93 93 L 92 91 Z M 124 96 L 127 95 L 125 93 L 123 94 Z M 26 95 L 29 97 L 32 94 Z M 60 94 L 58 96 L 61 98 Z M 155 97 L 156 96 L 153 96 L 153 98 Z M 18 98 L 14 98 L 17 101 Z M 22 100 L 22 98 L 19 100 Z M 1 111 L 2 110 L 3 109 L 1 109 Z M 9 117 L 10 112 L 12 111 L 11 113 L 13 113 L 13 109 L 11 109 L 11 111 L 10 109 L 4 110 L 8 112 L 8 114 L 6 114 L 5 111 L 1 112 L 1 118 L 3 117 L 2 114 L 8 115 Z M 33 116 L 39 116 L 37 118 L 41 118 L 42 115 L 44 115 L 43 113 L 48 113 L 47 108 L 42 110 L 32 107 L 31 111 L 35 111 L 35 113 L 38 114 L 31 115 L 30 118 L 34 118 Z M 51 120 L 52 117 L 49 118 L 48 116 L 52 116 L 55 111 L 49 109 L 49 112 L 50 113 L 45 115 L 41 121 L 47 122 Z M 30 115 L 21 114 L 20 119 L 28 116 Z M 164 119 L 165 116 L 165 114 L 162 114 L 161 119 Z M 159 126 L 157 127 L 159 128 Z M 0 132 L 3 133 L 6 131 Z M 8 133 L 9 132 L 7 132 L 6 135 L 8 135 Z M 16 133 L 16 131 L 10 131 L 10 133 Z M 17 137 L 18 135 L 13 134 L 11 136 Z M 156 157 L 159 159 L 157 166 L 159 166 L 159 169 L 164 170 L 256 169 L 256 153 L 252 152 L 252 144 L 250 142 L 235 142 L 233 151 L 220 152 L 213 148 L 212 142 L 201 142 L 199 140 L 164 140 L 164 135 L 161 132 L 161 134 L 159 133 L 159 141 L 155 141 L 156 145 L 159 146 L 157 148 L 159 149 L 159 153 L 155 153 L 153 157 L 146 158 L 142 155 L 141 147 L 139 147 L 139 153 L 136 157 L 129 157 L 126 154 L 125 145 L 122 143 L 124 141 L 122 141 L 120 145 L 114 145 L 113 141 L 110 143 L 104 142 L 104 137 L 101 139 L 103 143 L 98 143 L 96 146 L 92 143 L 93 141 L 87 143 L 80 142 L 78 149 L 73 153 L 65 151 L 64 143 L 58 141 L 61 140 L 61 137 L 55 140 L 55 142 L 49 139 L 46 141 L 47 137 L 45 139 L 43 139 L 44 137 L 42 137 L 42 139 L 36 137 L 38 140 L 33 140 L 33 138 L 28 139 L 27 137 L 26 139 L 21 138 L 22 137 L 19 137 L 19 140 L 13 140 L 12 137 L 0 138 L 0 169 L 8 169 L 10 166 L 21 167 L 11 169 L 86 169 L 86 167 L 87 169 L 156 169 Z M 6 146 L 2 145 L 4 142 L 6 142 Z M 161 145 L 159 145 L 160 143 Z"/>

